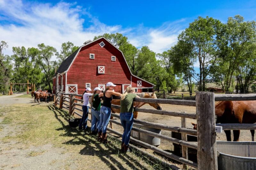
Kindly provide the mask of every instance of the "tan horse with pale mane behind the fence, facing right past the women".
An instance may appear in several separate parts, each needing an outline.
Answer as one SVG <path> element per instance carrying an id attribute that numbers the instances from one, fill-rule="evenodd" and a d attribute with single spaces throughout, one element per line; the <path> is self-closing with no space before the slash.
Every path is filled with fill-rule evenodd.
<path id="1" fill-rule="evenodd" d="M 142 92 L 142 93 L 136 93 L 136 94 L 137 94 L 139 97 L 141 97 L 141 98 L 157 99 L 155 92 L 153 92 L 153 93 L 152 93 L 152 92 Z M 134 102 L 133 102 L 133 106 L 136 106 L 138 103 L 139 103 L 139 102 L 134 101 Z M 120 99 L 113 99 L 113 100 L 111 101 L 111 104 L 119 105 L 119 106 L 120 106 Z M 144 104 L 146 104 L 146 103 L 144 103 Z M 144 104 L 143 104 L 143 105 L 144 105 Z M 157 110 L 162 110 L 162 105 L 159 104 L 159 103 L 148 103 L 148 104 L 149 104 L 150 106 L 156 108 Z M 142 106 L 143 106 L 143 105 L 142 105 Z M 112 113 L 120 113 L 120 109 L 112 108 L 112 107 L 111 107 L 111 112 L 112 112 Z M 137 119 L 137 117 L 138 117 L 138 112 L 137 112 L 137 111 L 133 111 L 133 118 L 134 118 L 134 119 Z M 113 119 L 113 116 L 111 116 L 110 119 Z M 109 127 L 110 127 L 111 129 L 113 129 L 112 122 L 110 122 Z"/>

